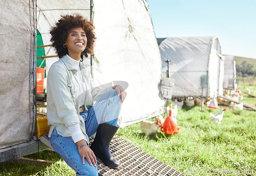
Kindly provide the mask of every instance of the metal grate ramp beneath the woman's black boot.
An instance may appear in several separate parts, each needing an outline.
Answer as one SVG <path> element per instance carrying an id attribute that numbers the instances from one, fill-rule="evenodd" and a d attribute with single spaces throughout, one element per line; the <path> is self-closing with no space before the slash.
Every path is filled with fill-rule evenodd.
<path id="1" fill-rule="evenodd" d="M 37 103 L 37 107 L 46 107 L 43 103 Z M 47 116 L 45 113 L 37 112 L 37 116 Z M 49 138 L 44 135 L 49 141 Z M 93 138 L 89 139 L 90 145 Z M 50 144 L 50 143 L 49 143 Z M 98 173 L 102 176 L 107 175 L 134 175 L 134 176 L 182 176 L 183 174 L 164 164 L 158 159 L 152 157 L 150 154 L 139 149 L 135 145 L 125 141 L 124 139 L 114 136 L 110 143 L 110 150 L 120 162 L 118 169 L 111 169 L 106 166 L 99 158 L 97 158 Z"/>

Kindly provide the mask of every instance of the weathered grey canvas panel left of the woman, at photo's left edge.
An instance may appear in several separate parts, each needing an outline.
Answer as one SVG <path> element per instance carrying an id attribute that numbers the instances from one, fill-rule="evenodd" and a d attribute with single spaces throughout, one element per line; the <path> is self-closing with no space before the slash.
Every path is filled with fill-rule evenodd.
<path id="1" fill-rule="evenodd" d="M 36 85 L 36 1 L 10 0 L 0 4 L 2 152 L 33 141 L 36 118 L 33 92 Z"/>

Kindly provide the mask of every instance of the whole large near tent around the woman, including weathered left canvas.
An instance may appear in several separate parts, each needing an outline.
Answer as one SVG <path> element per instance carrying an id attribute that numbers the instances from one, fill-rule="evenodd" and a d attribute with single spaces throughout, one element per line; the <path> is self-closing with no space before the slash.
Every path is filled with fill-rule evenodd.
<path id="1" fill-rule="evenodd" d="M 11 0 L 0 4 L 3 9 L 0 21 L 0 162 L 46 147 L 34 138 L 36 27 L 44 45 L 50 45 L 49 30 L 60 14 L 80 13 L 92 18 L 97 37 L 92 60 L 94 78 L 102 84 L 129 83 L 120 115 L 121 126 L 160 113 L 164 105 L 158 96 L 161 57 L 146 1 L 95 0 L 94 7 L 90 0 Z M 7 37 L 13 28 L 15 35 Z M 16 45 L 11 40 L 15 40 Z M 52 48 L 44 49 L 46 56 L 56 55 Z M 46 59 L 47 70 L 56 60 L 56 57 Z M 85 60 L 90 64 L 90 58 Z"/>

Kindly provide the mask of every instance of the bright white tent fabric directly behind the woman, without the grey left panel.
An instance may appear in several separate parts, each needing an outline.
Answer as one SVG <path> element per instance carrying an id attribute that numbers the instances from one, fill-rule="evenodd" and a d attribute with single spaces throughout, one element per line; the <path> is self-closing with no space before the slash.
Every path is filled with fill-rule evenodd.
<path id="1" fill-rule="evenodd" d="M 127 97 L 122 104 L 119 125 L 156 116 L 164 105 L 158 96 L 161 57 L 146 1 L 94 0 L 93 5 L 92 20 L 97 37 L 93 77 L 101 84 L 112 81 L 129 84 L 125 90 Z M 60 14 L 77 12 L 90 19 L 90 1 L 38 0 L 37 7 L 37 26 L 44 45 L 50 44 L 50 26 Z M 49 48 L 45 50 L 47 53 Z M 55 51 L 50 49 L 48 55 L 55 55 Z M 47 59 L 47 71 L 55 61 L 56 58 Z M 90 58 L 85 58 L 84 62 L 91 65 Z"/>

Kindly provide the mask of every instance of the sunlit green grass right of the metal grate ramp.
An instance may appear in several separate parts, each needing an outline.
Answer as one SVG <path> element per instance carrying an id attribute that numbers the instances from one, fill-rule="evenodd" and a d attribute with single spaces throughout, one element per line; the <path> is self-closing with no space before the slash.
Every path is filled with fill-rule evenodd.
<path id="1" fill-rule="evenodd" d="M 176 135 L 160 131 L 147 140 L 139 123 L 120 129 L 118 135 L 184 174 L 205 169 L 256 173 L 256 113 L 243 110 L 238 116 L 227 109 L 217 125 L 209 120 L 209 113 L 219 111 L 204 107 L 201 112 L 198 106 L 189 111 L 179 109 L 177 121 L 181 130 Z"/>

